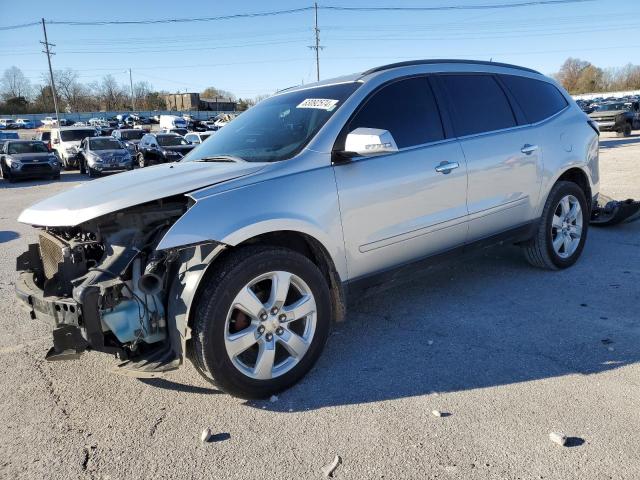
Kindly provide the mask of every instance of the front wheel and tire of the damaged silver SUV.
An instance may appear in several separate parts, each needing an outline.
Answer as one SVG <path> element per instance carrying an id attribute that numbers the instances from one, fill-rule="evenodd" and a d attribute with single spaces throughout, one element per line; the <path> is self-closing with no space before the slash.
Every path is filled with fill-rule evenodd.
<path id="1" fill-rule="evenodd" d="M 266 310 L 271 308 L 269 297 L 277 299 L 281 296 L 273 295 L 274 283 L 268 278 L 254 284 L 253 288 L 256 288 L 255 285 L 262 286 L 261 292 L 255 290 L 261 298 L 258 299 L 258 293 L 251 297 L 258 301 L 253 304 L 256 307 L 253 308 L 255 314 L 245 314 L 233 306 L 240 292 L 245 291 L 256 279 L 270 274 L 280 278 L 283 272 L 292 274 L 290 285 L 294 288 L 289 287 L 289 296 L 285 296 L 286 301 L 280 311 Z M 327 282 L 308 258 L 285 248 L 242 247 L 223 258 L 203 282 L 203 288 L 194 300 L 190 358 L 199 373 L 216 387 L 242 398 L 265 398 L 289 388 L 313 367 L 329 336 L 333 310 Z M 307 298 L 304 305 L 310 313 L 299 320 L 280 325 L 279 321 L 285 313 L 293 314 L 288 307 L 304 300 L 297 298 L 303 291 L 306 291 Z M 309 299 L 312 303 L 308 303 Z M 239 322 L 244 322 L 245 326 L 238 326 Z M 228 353 L 227 346 L 231 344 L 228 337 L 233 335 L 236 338 L 246 336 L 251 346 L 243 347 L 244 350 L 237 349 L 239 353 L 236 355 Z M 306 343 L 296 343 L 303 337 Z M 287 338 L 290 344 L 287 344 Z M 294 344 L 306 347 L 296 357 L 288 350 Z M 265 345 L 271 345 L 271 348 Z M 234 346 L 231 348 L 236 349 Z M 267 366 L 260 369 L 258 360 L 262 356 L 269 358 L 265 352 L 274 352 L 272 363 L 261 362 L 261 365 Z M 267 372 L 266 375 L 264 372 Z M 263 378 L 256 378 L 260 376 Z"/>

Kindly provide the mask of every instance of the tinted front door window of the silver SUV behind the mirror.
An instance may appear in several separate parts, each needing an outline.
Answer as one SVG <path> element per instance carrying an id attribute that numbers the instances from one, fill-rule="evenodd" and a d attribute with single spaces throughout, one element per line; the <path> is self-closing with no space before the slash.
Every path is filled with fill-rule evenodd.
<path id="1" fill-rule="evenodd" d="M 356 128 L 388 130 L 398 148 L 442 140 L 442 122 L 426 78 L 394 82 L 376 92 L 351 120 Z"/>

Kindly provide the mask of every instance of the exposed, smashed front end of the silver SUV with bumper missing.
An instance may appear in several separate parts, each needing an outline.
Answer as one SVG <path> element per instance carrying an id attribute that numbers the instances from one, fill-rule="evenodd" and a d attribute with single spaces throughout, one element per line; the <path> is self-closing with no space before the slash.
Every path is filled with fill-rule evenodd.
<path id="1" fill-rule="evenodd" d="M 167 326 L 179 250 L 156 250 L 189 208 L 175 196 L 129 207 L 75 227 L 42 228 L 17 259 L 18 297 L 32 318 L 49 319 L 49 360 L 85 350 L 112 353 L 149 372 L 177 368 L 180 352 Z"/>

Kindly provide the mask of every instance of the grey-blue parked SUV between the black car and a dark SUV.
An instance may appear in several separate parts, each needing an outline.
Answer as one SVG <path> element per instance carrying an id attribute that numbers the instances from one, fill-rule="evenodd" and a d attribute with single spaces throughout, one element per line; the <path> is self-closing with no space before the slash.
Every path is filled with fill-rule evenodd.
<path id="1" fill-rule="evenodd" d="M 133 169 L 129 150 L 113 137 L 87 137 L 78 153 L 80 173 L 95 177 L 103 173 Z"/>

